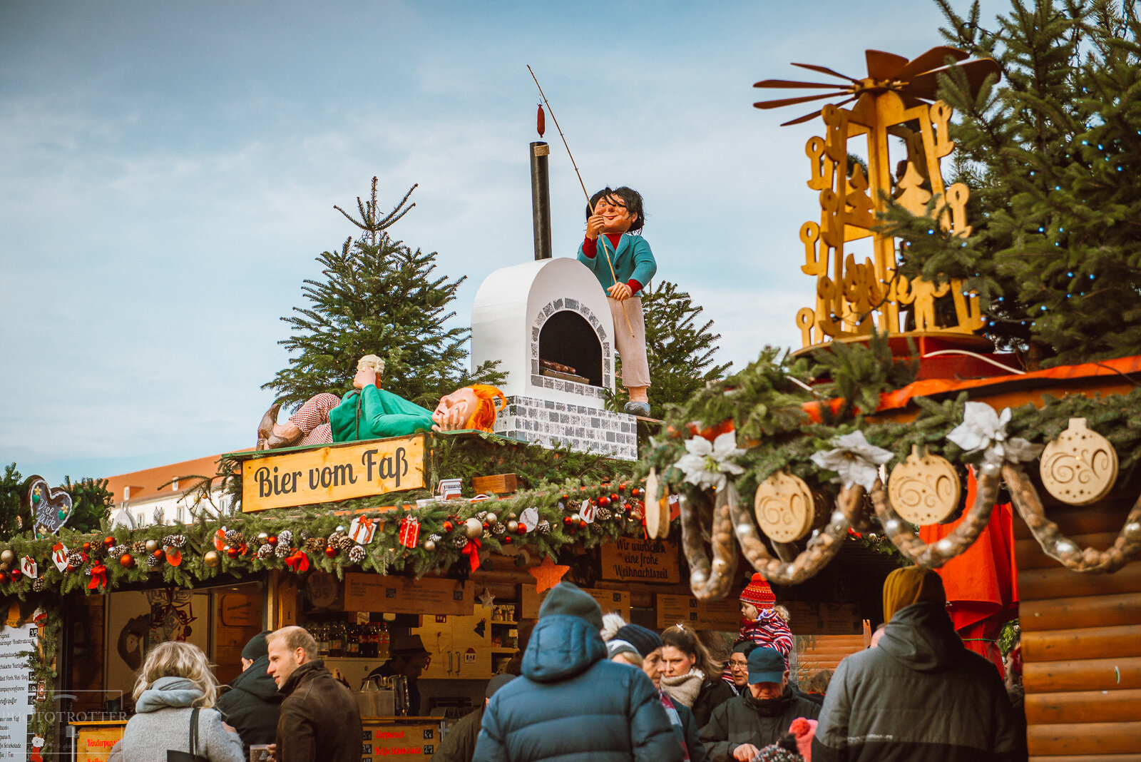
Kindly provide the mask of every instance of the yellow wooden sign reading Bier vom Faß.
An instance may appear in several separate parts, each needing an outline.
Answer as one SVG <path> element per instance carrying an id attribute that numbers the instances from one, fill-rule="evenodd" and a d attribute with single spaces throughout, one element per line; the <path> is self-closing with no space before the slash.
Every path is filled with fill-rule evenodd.
<path id="1" fill-rule="evenodd" d="M 420 489 L 423 470 L 422 433 L 256 457 L 242 463 L 242 511 Z"/>

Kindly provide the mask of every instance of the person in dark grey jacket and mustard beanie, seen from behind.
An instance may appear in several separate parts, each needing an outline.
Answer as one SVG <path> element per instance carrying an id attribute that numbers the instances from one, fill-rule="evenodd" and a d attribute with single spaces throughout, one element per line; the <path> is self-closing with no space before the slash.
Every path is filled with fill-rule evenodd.
<path id="1" fill-rule="evenodd" d="M 946 602 L 934 572 L 911 566 L 888 575 L 883 637 L 836 667 L 812 762 L 1019 759 L 998 672 L 963 646 Z"/>

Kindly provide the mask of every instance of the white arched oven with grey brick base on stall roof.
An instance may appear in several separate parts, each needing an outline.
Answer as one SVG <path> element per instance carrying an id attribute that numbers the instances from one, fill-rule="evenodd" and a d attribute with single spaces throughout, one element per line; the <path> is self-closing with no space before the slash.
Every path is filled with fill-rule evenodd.
<path id="1" fill-rule="evenodd" d="M 605 406 L 614 391 L 612 331 L 606 294 L 576 259 L 487 276 L 471 308 L 471 363 L 497 359 L 508 373 L 496 433 L 637 459 L 636 419 Z"/>

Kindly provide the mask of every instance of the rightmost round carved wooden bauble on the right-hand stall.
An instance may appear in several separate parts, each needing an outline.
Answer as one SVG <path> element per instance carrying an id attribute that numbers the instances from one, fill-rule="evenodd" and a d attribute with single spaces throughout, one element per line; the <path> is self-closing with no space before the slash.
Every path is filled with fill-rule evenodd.
<path id="1" fill-rule="evenodd" d="M 1071 418 L 1069 427 L 1042 451 L 1042 485 L 1069 505 L 1089 505 L 1104 497 L 1117 481 L 1117 451 L 1084 418 Z"/>

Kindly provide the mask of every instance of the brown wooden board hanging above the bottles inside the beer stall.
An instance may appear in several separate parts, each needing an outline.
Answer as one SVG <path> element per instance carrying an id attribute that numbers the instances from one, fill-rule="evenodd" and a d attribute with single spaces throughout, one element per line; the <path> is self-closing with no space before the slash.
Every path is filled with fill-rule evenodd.
<path id="1" fill-rule="evenodd" d="M 345 575 L 346 611 L 386 614 L 467 614 L 476 603 L 471 582 L 436 577 L 390 577 L 350 572 Z"/>

